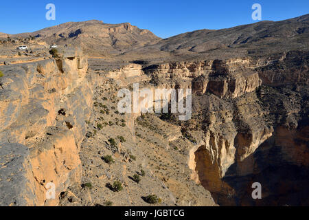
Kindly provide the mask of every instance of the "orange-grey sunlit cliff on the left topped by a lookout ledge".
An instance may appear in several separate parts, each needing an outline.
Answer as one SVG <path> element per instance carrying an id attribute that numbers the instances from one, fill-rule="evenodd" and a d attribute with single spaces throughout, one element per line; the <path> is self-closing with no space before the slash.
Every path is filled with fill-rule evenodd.
<path id="1" fill-rule="evenodd" d="M 87 58 L 1 67 L 0 148 L 2 206 L 56 205 L 58 195 L 80 181 L 78 156 L 92 105 Z M 46 200 L 47 184 L 56 199 Z"/>

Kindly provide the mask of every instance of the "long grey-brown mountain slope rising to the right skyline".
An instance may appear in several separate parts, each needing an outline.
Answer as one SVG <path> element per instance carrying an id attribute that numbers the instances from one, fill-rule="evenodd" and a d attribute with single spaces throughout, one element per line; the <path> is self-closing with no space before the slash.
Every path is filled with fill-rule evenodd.
<path id="1" fill-rule="evenodd" d="M 127 57 L 149 62 L 264 56 L 307 50 L 309 14 L 285 21 L 261 21 L 221 30 L 196 30 L 128 50 Z M 151 51 L 151 54 L 148 52 Z"/>

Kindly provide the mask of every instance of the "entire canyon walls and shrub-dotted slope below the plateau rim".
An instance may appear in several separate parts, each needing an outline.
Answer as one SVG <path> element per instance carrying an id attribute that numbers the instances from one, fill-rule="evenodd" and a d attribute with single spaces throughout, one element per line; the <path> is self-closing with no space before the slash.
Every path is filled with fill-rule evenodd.
<path id="1" fill-rule="evenodd" d="M 3 205 L 113 198 L 140 206 L 149 193 L 169 206 L 308 204 L 308 53 L 87 68 L 78 52 L 1 67 Z M 192 119 L 112 110 L 118 89 L 133 83 L 192 88 Z M 113 146 L 111 138 L 122 141 Z M 102 162 L 106 154 L 116 165 Z M 137 167 L 149 173 L 140 186 L 130 181 Z M 103 186 L 115 179 L 126 187 L 117 196 Z M 251 198 L 255 181 L 261 200 Z M 56 199 L 47 200 L 50 182 Z M 82 187 L 89 182 L 95 190 Z"/>

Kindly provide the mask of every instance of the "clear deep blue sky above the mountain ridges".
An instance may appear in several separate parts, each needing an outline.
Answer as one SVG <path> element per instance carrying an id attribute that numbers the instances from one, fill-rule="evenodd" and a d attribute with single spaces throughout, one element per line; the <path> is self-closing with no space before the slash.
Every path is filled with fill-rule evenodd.
<path id="1" fill-rule="evenodd" d="M 18 0 L 1 1 L 0 32 L 33 32 L 68 21 L 97 19 L 130 22 L 162 38 L 199 29 L 231 28 L 254 23 L 253 3 L 262 5 L 262 20 L 279 21 L 309 13 L 308 0 Z M 56 21 L 45 19 L 45 5 L 56 5 Z"/>

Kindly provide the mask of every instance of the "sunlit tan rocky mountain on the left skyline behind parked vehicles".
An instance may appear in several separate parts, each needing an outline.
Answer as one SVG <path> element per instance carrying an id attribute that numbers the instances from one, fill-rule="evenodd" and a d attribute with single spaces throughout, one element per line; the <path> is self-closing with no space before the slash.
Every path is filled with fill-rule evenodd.
<path id="1" fill-rule="evenodd" d="M 106 24 L 102 21 L 68 22 L 15 37 L 35 36 L 49 45 L 82 47 L 87 54 L 110 56 L 124 49 L 156 43 L 159 37 L 148 30 L 141 30 L 130 23 Z"/>

